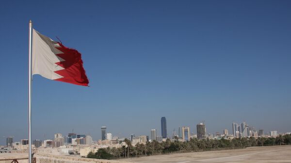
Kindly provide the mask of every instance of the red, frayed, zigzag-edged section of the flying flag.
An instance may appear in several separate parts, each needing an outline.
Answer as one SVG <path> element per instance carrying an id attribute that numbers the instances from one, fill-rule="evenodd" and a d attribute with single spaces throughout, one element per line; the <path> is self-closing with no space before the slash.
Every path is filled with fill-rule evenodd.
<path id="1" fill-rule="evenodd" d="M 86 76 L 85 70 L 83 68 L 83 61 L 81 59 L 81 53 L 75 49 L 65 47 L 63 44 L 59 43 L 61 47 L 56 47 L 63 54 L 57 54 L 60 58 L 65 61 L 57 62 L 55 64 L 65 68 L 64 70 L 55 71 L 56 74 L 64 76 L 56 81 L 62 81 L 66 83 L 88 86 L 89 80 Z"/>

